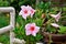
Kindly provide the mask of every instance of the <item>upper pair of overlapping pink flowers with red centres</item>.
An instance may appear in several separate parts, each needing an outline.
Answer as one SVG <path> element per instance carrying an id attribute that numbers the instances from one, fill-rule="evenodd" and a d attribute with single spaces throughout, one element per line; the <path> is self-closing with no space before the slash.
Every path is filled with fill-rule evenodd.
<path id="1" fill-rule="evenodd" d="M 26 18 L 29 16 L 29 15 L 31 15 L 31 18 L 33 16 L 33 14 L 34 14 L 34 12 L 35 12 L 35 10 L 34 9 L 32 9 L 30 6 L 22 6 L 21 7 L 21 11 L 20 11 L 20 15 L 22 15 L 23 16 L 23 19 L 25 19 L 26 20 Z"/>

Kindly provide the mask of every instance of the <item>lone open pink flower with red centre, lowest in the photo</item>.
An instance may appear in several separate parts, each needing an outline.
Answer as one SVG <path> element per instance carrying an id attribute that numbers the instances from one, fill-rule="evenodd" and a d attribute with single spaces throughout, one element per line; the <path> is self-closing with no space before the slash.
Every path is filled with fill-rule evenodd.
<path id="1" fill-rule="evenodd" d="M 28 23 L 25 25 L 25 32 L 26 35 L 32 34 L 33 36 L 36 36 L 36 33 L 40 31 L 40 28 L 35 25 L 35 23 Z"/>

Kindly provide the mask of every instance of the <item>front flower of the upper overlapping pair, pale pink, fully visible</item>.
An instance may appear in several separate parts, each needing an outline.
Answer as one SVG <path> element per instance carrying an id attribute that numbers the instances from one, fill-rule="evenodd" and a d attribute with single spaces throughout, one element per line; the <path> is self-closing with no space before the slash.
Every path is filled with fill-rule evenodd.
<path id="1" fill-rule="evenodd" d="M 25 6 L 22 6 L 19 14 L 22 15 L 23 19 L 26 19 L 30 15 L 30 13 L 31 13 L 30 8 L 25 7 Z"/>

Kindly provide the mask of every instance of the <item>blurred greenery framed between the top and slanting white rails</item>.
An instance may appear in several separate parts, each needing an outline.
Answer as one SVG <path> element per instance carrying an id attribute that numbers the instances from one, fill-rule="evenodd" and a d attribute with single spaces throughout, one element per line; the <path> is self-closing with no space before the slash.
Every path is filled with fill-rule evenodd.
<path id="1" fill-rule="evenodd" d="M 0 14 L 0 28 L 9 25 L 9 18 L 4 13 Z"/>

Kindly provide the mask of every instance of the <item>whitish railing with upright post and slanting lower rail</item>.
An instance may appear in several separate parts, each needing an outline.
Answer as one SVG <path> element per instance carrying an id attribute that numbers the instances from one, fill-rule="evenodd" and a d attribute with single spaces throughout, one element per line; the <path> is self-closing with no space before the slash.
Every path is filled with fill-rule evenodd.
<path id="1" fill-rule="evenodd" d="M 12 7 L 7 7 L 7 8 L 0 8 L 0 12 L 10 12 L 10 24 L 8 26 L 1 28 L 0 29 L 0 34 L 6 33 L 10 31 L 10 44 L 19 43 L 19 44 L 24 44 L 24 40 L 19 40 L 14 37 L 14 22 L 15 22 L 15 10 Z M 1 44 L 1 43 L 0 43 Z"/>

